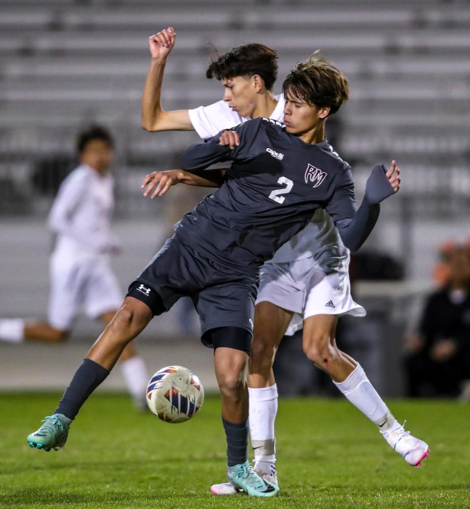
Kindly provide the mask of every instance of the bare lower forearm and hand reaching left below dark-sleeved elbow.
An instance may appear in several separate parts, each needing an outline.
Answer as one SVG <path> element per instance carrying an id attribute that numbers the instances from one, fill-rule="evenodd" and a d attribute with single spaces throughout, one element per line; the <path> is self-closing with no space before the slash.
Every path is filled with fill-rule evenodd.
<path id="1" fill-rule="evenodd" d="M 224 182 L 225 169 L 211 169 L 201 174 L 185 172 L 183 169 L 171 169 L 167 172 L 153 172 L 142 182 L 142 189 L 146 187 L 144 196 L 153 199 L 163 196 L 171 186 L 186 184 L 199 187 L 220 187 Z M 153 191 L 153 192 L 152 192 Z"/>

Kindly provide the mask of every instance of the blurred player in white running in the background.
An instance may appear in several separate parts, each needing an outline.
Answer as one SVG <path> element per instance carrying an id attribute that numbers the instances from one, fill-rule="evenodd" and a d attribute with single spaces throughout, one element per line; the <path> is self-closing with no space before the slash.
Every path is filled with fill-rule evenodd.
<path id="1" fill-rule="evenodd" d="M 50 258 L 48 321 L 0 319 L 0 340 L 60 343 L 67 340 L 75 317 L 108 325 L 122 302 L 110 255 L 120 252 L 111 232 L 114 179 L 109 173 L 114 142 L 109 131 L 91 126 L 77 136 L 78 166 L 62 182 L 49 214 L 56 235 Z M 134 345 L 122 352 L 121 369 L 136 407 L 147 408 L 148 381 L 143 359 Z"/>

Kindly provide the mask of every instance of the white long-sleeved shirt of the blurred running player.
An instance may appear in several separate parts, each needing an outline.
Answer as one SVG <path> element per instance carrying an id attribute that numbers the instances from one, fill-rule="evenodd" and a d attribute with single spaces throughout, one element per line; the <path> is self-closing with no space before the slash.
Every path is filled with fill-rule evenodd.
<path id="1" fill-rule="evenodd" d="M 54 252 L 72 258 L 106 253 L 118 245 L 111 233 L 114 179 L 82 164 L 60 185 L 49 214 L 57 234 Z"/>

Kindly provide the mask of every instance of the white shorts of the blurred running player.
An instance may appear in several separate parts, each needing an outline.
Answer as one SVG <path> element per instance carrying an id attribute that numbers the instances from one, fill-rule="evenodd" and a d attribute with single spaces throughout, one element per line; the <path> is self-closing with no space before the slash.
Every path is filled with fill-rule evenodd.
<path id="1" fill-rule="evenodd" d="M 95 319 L 121 305 L 124 295 L 108 256 L 74 259 L 56 252 L 49 266 L 48 321 L 53 327 L 68 330 L 81 312 Z"/>

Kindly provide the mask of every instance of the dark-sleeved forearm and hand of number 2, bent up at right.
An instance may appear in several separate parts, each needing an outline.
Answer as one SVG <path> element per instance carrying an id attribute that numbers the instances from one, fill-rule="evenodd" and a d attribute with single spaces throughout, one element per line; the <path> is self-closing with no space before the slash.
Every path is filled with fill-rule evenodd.
<path id="1" fill-rule="evenodd" d="M 366 241 L 379 218 L 380 202 L 396 193 L 400 183 L 400 170 L 395 161 L 392 161 L 388 171 L 382 164 L 374 166 L 367 179 L 364 199 L 359 209 L 352 217 L 335 221 L 339 235 L 348 249 L 357 251 Z"/>

